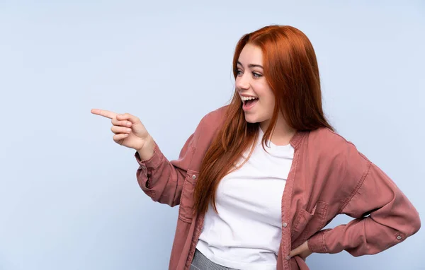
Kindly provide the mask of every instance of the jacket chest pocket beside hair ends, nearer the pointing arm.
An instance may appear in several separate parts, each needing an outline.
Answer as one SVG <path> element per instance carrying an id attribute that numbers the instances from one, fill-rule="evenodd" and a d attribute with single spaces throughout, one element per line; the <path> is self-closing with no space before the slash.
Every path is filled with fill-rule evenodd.
<path id="1" fill-rule="evenodd" d="M 188 170 L 181 190 L 179 219 L 191 223 L 193 219 L 193 192 L 199 172 Z"/>

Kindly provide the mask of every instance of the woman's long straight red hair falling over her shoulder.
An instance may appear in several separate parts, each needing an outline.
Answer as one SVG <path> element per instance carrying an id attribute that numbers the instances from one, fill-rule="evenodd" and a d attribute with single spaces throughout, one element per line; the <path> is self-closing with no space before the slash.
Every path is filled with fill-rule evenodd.
<path id="1" fill-rule="evenodd" d="M 271 139 L 279 112 L 285 122 L 297 131 L 311 131 L 320 127 L 334 130 L 324 117 L 319 68 L 316 54 L 307 36 L 288 25 L 266 26 L 244 35 L 234 51 L 235 79 L 239 54 L 248 43 L 261 48 L 264 77 L 276 98 L 271 124 L 262 139 L 263 147 L 266 140 Z M 242 153 L 259 136 L 259 123 L 246 122 L 242 102 L 236 90 L 227 107 L 225 119 L 203 158 L 193 194 L 194 214 L 204 215 L 210 203 L 217 212 L 215 192 L 220 180 L 244 164 L 234 167 Z M 253 150 L 254 148 L 251 153 Z"/>

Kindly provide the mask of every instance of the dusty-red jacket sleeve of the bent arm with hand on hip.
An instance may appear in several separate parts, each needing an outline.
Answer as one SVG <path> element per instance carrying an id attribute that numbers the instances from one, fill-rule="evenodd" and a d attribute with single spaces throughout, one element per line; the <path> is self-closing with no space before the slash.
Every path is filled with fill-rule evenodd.
<path id="1" fill-rule="evenodd" d="M 355 219 L 313 235 L 308 240 L 312 252 L 376 254 L 419 230 L 419 213 L 385 172 L 358 151 L 351 151 L 344 164 L 344 182 L 354 181 L 355 188 L 340 213 Z"/>

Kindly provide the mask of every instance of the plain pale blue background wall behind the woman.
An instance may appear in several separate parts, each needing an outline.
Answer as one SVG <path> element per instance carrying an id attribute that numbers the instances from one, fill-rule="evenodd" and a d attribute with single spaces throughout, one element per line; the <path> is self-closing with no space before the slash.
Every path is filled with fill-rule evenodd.
<path id="1" fill-rule="evenodd" d="M 0 1 L 0 269 L 167 269 L 178 209 L 141 191 L 134 151 L 90 110 L 140 117 L 177 158 L 231 98 L 239 37 L 269 24 L 310 38 L 331 124 L 423 218 L 424 1 Z M 424 232 L 307 263 L 425 269 Z"/>

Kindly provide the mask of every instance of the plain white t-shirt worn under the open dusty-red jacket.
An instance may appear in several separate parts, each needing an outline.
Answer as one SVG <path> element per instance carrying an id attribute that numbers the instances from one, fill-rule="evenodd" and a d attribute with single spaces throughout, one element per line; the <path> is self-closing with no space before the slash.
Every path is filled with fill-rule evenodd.
<path id="1" fill-rule="evenodd" d="M 294 148 L 268 141 L 267 153 L 261 145 L 261 128 L 259 132 L 251 158 L 220 181 L 215 197 L 218 214 L 210 204 L 196 245 L 212 262 L 233 269 L 276 270 L 281 200 Z"/>

